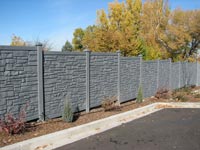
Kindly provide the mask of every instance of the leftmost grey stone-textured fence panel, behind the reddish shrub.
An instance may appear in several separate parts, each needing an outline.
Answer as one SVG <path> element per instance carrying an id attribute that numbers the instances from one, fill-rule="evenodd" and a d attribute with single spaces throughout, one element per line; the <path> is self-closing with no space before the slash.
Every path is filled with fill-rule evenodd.
<path id="1" fill-rule="evenodd" d="M 26 104 L 27 119 L 38 117 L 35 48 L 0 47 L 0 97 L 0 117 L 16 116 Z"/>

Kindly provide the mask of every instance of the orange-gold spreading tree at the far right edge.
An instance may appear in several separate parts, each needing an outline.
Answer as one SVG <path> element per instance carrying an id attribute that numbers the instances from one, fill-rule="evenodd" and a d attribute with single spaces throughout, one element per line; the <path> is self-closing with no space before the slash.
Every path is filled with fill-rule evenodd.
<path id="1" fill-rule="evenodd" d="M 197 50 L 200 47 L 199 15 L 199 10 L 183 11 L 176 9 L 172 13 L 166 38 L 161 39 L 161 44 L 167 46 L 172 57 L 176 52 L 180 59 L 196 59 Z"/>

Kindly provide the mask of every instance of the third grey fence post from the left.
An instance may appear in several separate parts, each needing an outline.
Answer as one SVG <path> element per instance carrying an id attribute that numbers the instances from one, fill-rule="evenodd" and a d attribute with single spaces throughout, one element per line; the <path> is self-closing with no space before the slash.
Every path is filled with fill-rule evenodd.
<path id="1" fill-rule="evenodd" d="M 121 57 L 121 52 L 120 50 L 117 51 L 117 62 L 118 62 L 118 69 L 117 69 L 117 99 L 119 104 L 121 103 L 121 99 L 120 99 L 120 84 L 121 84 L 121 77 L 120 77 L 120 57 Z"/>

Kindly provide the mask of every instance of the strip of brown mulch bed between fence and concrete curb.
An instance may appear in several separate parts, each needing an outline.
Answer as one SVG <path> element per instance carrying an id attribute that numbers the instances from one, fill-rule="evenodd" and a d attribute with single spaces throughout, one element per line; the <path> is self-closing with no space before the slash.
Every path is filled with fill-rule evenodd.
<path id="1" fill-rule="evenodd" d="M 41 135 L 60 131 L 63 129 L 75 127 L 81 124 L 85 124 L 115 114 L 133 110 L 142 106 L 146 106 L 155 102 L 200 102 L 200 87 L 182 88 L 170 93 L 171 98 L 169 99 L 162 98 L 162 95 L 160 95 L 159 99 L 155 97 L 146 98 L 142 103 L 136 103 L 135 100 L 122 103 L 120 107 L 116 107 L 116 109 L 112 109 L 110 111 L 104 111 L 104 108 L 99 107 L 92 109 L 90 113 L 80 112 L 78 114 L 75 114 L 75 121 L 72 123 L 66 123 L 61 118 L 51 119 L 42 123 L 29 122 L 27 123 L 27 130 L 23 134 L 8 135 L 4 132 L 1 132 L 0 147 L 38 137 Z"/>

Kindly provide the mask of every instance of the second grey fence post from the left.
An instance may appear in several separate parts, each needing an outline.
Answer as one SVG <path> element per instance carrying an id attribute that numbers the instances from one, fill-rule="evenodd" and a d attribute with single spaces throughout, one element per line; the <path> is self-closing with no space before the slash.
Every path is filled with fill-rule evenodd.
<path id="1" fill-rule="evenodd" d="M 90 111 L 90 50 L 84 50 L 86 54 L 86 112 Z"/>

